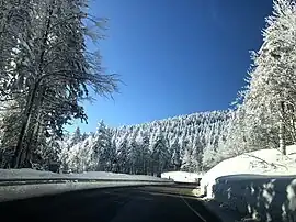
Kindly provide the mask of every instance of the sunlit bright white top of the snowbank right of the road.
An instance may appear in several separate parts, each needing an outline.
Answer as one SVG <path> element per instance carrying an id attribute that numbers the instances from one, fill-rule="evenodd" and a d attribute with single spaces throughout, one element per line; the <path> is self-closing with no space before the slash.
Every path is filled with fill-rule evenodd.
<path id="1" fill-rule="evenodd" d="M 242 179 L 250 178 L 249 174 L 252 174 L 252 177 L 258 177 L 255 175 L 296 175 L 296 145 L 287 147 L 286 156 L 277 149 L 260 149 L 226 159 L 204 175 L 201 191 L 213 197 L 212 187 L 218 177 L 241 175 Z"/>

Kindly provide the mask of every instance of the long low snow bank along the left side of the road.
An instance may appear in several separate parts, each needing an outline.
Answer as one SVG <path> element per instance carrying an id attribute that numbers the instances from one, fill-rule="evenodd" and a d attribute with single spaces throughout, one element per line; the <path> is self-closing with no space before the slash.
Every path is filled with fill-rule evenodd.
<path id="1" fill-rule="evenodd" d="M 126 175 L 107 171 L 87 171 L 83 174 L 56 174 L 35 169 L 0 169 L 0 180 L 13 179 L 102 179 L 102 180 L 147 180 L 166 181 L 158 177 L 146 175 Z"/>

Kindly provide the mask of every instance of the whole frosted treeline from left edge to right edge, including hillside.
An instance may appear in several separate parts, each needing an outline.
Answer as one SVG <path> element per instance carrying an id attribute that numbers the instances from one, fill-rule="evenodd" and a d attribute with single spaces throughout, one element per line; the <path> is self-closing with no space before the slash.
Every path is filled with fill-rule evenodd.
<path id="1" fill-rule="evenodd" d="M 260 148 L 285 154 L 296 143 L 296 3 L 273 5 L 232 110 L 121 129 L 101 122 L 95 133 L 69 136 L 65 125 L 87 120 L 90 89 L 117 89 L 84 45 L 102 37 L 104 21 L 86 13 L 87 0 L 0 1 L 0 167 L 159 175 Z"/>

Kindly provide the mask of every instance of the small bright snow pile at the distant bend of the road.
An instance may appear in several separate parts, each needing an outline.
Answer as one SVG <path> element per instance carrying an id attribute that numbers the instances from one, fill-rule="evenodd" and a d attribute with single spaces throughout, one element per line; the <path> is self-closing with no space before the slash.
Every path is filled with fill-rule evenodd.
<path id="1" fill-rule="evenodd" d="M 198 182 L 203 174 L 189 171 L 167 171 L 161 174 L 161 178 L 172 179 L 177 182 Z"/>

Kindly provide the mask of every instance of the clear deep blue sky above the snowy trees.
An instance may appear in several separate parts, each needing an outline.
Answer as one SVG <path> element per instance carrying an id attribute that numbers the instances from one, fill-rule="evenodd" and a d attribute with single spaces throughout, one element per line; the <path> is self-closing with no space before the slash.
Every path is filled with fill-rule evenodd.
<path id="1" fill-rule="evenodd" d="M 271 11 L 272 0 L 91 2 L 92 14 L 110 19 L 99 45 L 103 66 L 125 85 L 114 100 L 86 104 L 82 131 L 94 131 L 101 119 L 118 126 L 227 109 Z"/>

